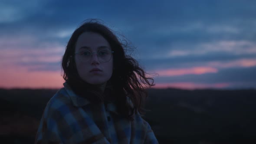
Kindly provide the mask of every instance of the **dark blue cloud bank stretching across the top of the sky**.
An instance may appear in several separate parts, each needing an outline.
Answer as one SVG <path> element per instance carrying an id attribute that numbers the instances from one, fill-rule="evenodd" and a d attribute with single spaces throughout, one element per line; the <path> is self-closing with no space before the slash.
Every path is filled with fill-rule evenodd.
<path id="1" fill-rule="evenodd" d="M 253 35 L 249 30 L 252 30 L 251 28 L 255 25 L 254 3 L 256 2 L 241 3 L 230 0 L 214 2 L 163 0 L 158 3 L 81 0 L 71 3 L 68 0 L 48 0 L 37 3 L 37 7 L 41 6 L 37 8 L 38 10 L 33 7 L 27 7 L 26 10 L 20 9 L 25 15 L 23 19 L 0 23 L 0 31 L 5 34 L 33 35 L 41 41 L 52 40 L 65 43 L 69 36 L 53 39 L 54 36 L 50 35 L 65 29 L 74 30 L 87 18 L 101 18 L 116 28 L 120 27 L 118 29 L 136 46 L 148 45 L 148 49 L 154 49 L 155 46 L 165 49 L 165 46 L 170 43 L 201 43 L 218 39 L 253 40 L 256 38 L 255 34 Z M 19 3 L 13 7 L 25 6 Z M 193 28 L 194 23 L 202 25 Z M 234 26 L 240 29 L 241 33 L 234 35 L 206 31 L 208 26 L 216 24 Z M 192 28 L 188 29 L 190 26 Z M 157 29 L 162 29 L 162 32 L 155 33 L 154 30 Z"/>

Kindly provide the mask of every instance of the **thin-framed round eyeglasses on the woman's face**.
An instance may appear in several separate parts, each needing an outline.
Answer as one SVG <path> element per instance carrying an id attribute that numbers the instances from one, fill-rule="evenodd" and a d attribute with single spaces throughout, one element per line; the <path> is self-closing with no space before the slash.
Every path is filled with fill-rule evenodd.
<path id="1" fill-rule="evenodd" d="M 114 53 L 114 51 L 108 49 L 99 50 L 98 52 L 90 52 L 89 50 L 83 50 L 81 52 L 76 52 L 75 55 L 78 56 L 78 59 L 81 62 L 89 62 L 89 60 L 92 58 L 93 53 L 97 53 L 98 60 L 100 62 L 108 62 L 111 59 L 112 53 Z"/>

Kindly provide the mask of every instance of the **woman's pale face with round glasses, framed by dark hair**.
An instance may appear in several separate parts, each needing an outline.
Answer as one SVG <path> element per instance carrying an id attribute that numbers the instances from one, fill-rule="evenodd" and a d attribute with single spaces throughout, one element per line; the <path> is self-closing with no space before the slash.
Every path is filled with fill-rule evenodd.
<path id="1" fill-rule="evenodd" d="M 106 52 L 111 51 L 108 41 L 100 34 L 82 33 L 75 46 L 75 65 L 80 78 L 92 85 L 105 85 L 113 71 L 112 53 L 109 61 L 105 59 L 109 54 Z"/>

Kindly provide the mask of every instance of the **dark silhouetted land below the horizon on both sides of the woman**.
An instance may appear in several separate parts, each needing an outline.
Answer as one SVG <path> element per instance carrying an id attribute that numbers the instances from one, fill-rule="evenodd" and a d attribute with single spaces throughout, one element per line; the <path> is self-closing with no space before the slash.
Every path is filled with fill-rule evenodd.
<path id="1" fill-rule="evenodd" d="M 255 144 L 256 90 L 148 89 L 146 119 L 160 144 Z M 57 89 L 0 89 L 3 144 L 33 144 Z M 2 142 L 1 142 L 2 143 Z"/>

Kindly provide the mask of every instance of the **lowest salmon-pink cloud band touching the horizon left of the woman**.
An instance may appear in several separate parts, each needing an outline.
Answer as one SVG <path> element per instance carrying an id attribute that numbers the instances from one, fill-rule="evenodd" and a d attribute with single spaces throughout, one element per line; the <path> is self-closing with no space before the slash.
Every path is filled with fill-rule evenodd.
<path id="1" fill-rule="evenodd" d="M 1 88 L 60 88 L 60 72 L 28 72 L 26 68 L 0 70 Z"/>

